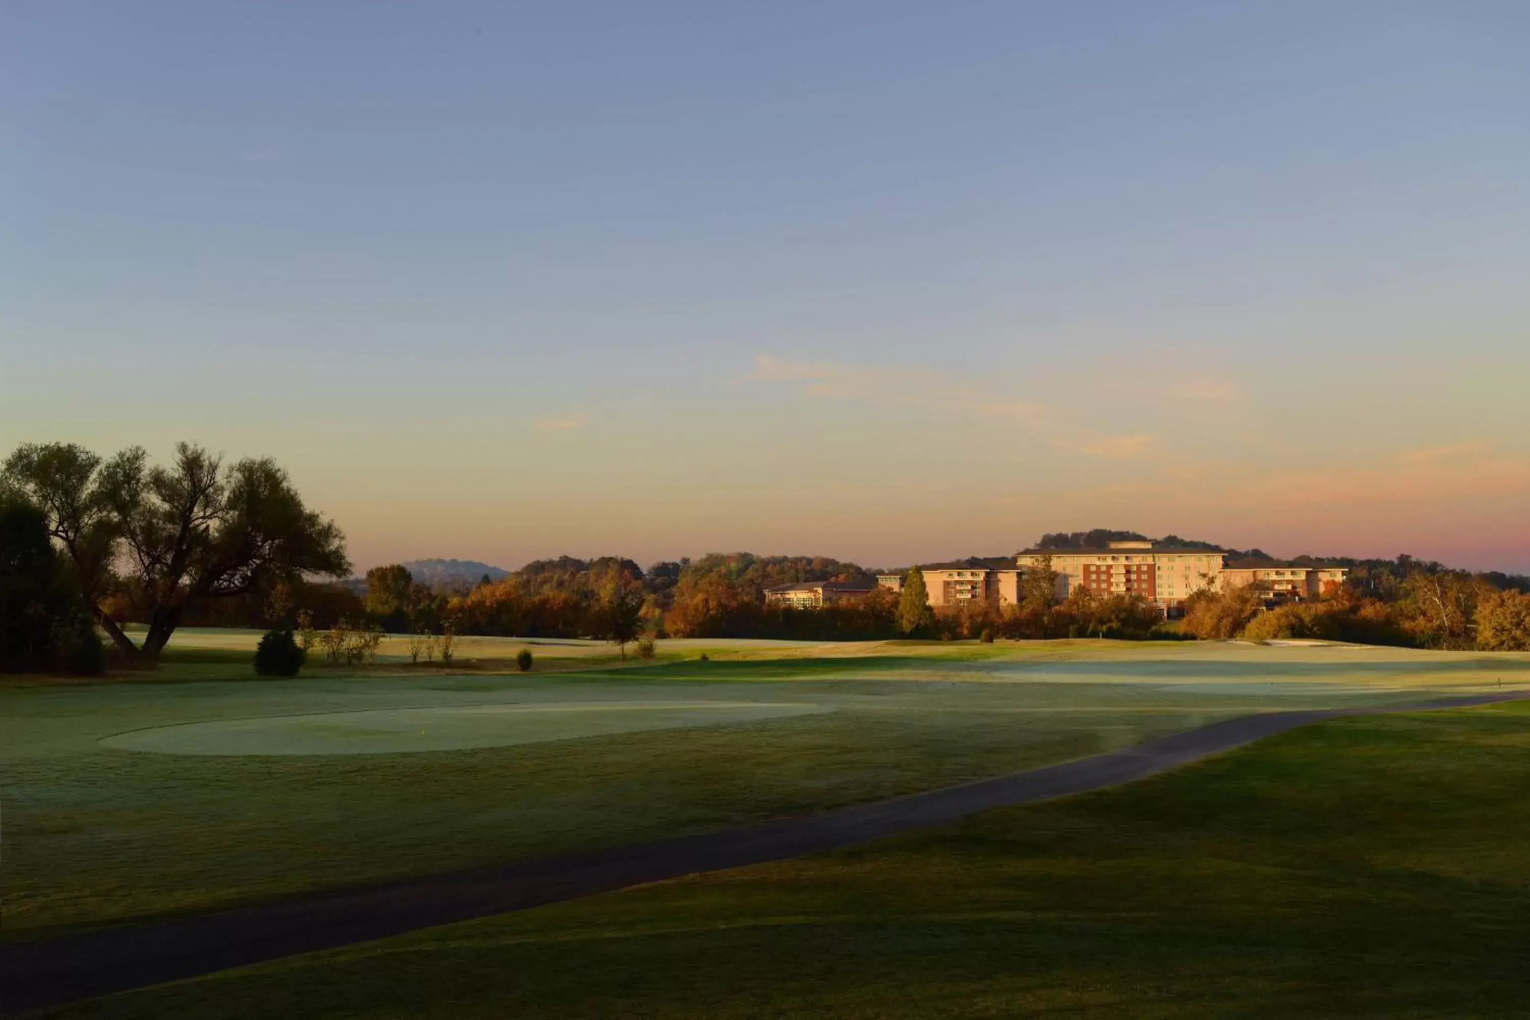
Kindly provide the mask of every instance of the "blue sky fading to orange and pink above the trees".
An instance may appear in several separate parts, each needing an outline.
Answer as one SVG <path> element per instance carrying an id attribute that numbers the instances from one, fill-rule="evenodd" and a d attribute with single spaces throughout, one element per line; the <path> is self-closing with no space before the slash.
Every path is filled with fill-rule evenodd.
<path id="1" fill-rule="evenodd" d="M 0 9 L 0 447 L 358 569 L 1135 529 L 1530 570 L 1530 5 Z"/>

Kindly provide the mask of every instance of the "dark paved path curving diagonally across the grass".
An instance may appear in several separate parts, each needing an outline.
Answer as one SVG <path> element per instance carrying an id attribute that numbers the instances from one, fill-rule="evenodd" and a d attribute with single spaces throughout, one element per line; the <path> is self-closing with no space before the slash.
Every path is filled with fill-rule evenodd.
<path id="1" fill-rule="evenodd" d="M 1149 740 L 1125 751 L 822 815 L 491 870 L 318 893 L 141 927 L 0 945 L 0 1009 L 9 1014 L 55 1006 L 643 882 L 834 850 L 946 824 L 990 807 L 1117 786 L 1322 719 L 1460 708 L 1516 697 L 1530 697 L 1530 691 L 1449 697 L 1385 710 L 1262 713 Z"/>

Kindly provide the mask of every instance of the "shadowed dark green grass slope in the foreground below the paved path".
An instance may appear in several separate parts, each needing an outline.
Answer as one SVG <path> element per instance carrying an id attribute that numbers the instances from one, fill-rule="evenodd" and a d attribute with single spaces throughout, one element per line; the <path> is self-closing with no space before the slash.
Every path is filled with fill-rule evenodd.
<path id="1" fill-rule="evenodd" d="M 67 1017 L 1521 1017 L 1530 707 L 116 996 Z"/>

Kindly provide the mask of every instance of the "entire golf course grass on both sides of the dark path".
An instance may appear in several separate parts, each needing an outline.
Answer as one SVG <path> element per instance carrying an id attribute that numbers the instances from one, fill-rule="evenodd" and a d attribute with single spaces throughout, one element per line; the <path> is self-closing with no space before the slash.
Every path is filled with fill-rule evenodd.
<path id="1" fill-rule="evenodd" d="M 952 1015 L 953 988 L 961 1015 L 1311 1015 L 1313 988 L 1377 994 L 1349 957 L 1395 968 L 1377 1015 L 1461 1015 L 1427 997 L 1466 983 L 1473 1015 L 1515 1015 L 1525 992 L 1530 713 L 1392 710 L 1530 690 L 1527 655 L 676 639 L 638 661 L 474 638 L 444 665 L 393 638 L 372 664 L 259 679 L 256 638 L 184 630 L 153 671 L 0 681 L 6 942 L 620 855 L 1362 711 L 1112 789 L 57 1015 Z M 1470 973 L 1444 974 L 1452 939 L 1476 940 Z"/>

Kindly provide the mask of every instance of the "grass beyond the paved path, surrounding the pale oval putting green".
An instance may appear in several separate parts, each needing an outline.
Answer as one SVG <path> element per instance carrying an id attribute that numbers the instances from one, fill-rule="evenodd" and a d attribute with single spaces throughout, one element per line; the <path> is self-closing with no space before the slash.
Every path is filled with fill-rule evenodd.
<path id="1" fill-rule="evenodd" d="M 181 638 L 155 673 L 0 682 L 0 937 L 715 830 L 1262 708 L 1386 703 L 1499 674 L 1530 687 L 1530 656 L 1117 642 L 695 642 L 667 655 L 707 647 L 713 661 L 617 667 L 606 647 L 597 668 L 566 673 L 257 681 L 242 658 L 252 635 Z M 522 644 L 480 641 L 485 656 Z M 580 662 L 598 651 L 557 647 Z M 828 711 L 415 754 L 187 757 L 101 743 L 211 720 L 646 699 Z"/>

